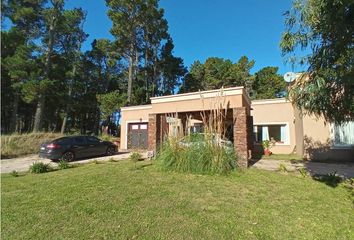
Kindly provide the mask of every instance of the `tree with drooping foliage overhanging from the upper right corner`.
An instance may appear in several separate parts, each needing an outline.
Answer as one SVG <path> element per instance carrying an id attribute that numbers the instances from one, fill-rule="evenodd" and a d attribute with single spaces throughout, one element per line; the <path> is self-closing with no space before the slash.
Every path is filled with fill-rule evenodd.
<path id="1" fill-rule="evenodd" d="M 354 2 L 296 0 L 285 13 L 286 31 L 280 46 L 284 56 L 309 66 L 290 88 L 289 97 L 304 113 L 327 121 L 354 119 Z"/>

